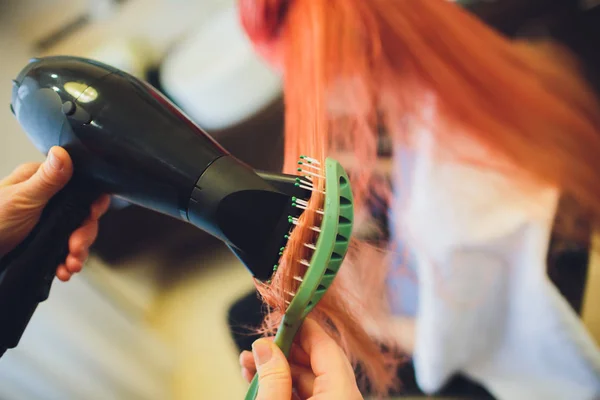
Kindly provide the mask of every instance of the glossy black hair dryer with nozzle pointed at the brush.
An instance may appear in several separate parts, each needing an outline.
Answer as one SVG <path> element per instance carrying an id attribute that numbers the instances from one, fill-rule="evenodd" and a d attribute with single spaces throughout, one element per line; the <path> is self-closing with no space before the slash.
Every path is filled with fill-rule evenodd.
<path id="1" fill-rule="evenodd" d="M 306 193 L 293 176 L 235 159 L 150 85 L 91 60 L 34 59 L 14 81 L 11 109 L 44 154 L 69 152 L 75 174 L 0 260 L 0 355 L 48 297 L 68 238 L 101 193 L 189 222 L 225 242 L 254 277 L 272 274 L 290 197 Z"/>

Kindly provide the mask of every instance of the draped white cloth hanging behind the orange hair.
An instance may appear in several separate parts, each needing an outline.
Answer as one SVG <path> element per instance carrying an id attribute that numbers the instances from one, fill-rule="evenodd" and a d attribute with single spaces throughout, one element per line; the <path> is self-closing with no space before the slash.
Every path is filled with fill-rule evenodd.
<path id="1" fill-rule="evenodd" d="M 519 198 L 492 172 L 434 161 L 426 132 L 418 141 L 410 176 L 396 157 L 393 208 L 415 256 L 421 389 L 461 373 L 500 400 L 600 398 L 600 350 L 546 274 L 557 191 Z"/>

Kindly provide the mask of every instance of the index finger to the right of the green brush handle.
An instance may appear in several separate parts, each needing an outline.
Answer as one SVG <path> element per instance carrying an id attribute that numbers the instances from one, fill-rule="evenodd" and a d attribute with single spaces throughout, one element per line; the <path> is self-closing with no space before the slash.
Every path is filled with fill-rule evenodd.
<path id="1" fill-rule="evenodd" d="M 352 368 L 337 343 L 312 319 L 300 328 L 300 347 L 310 356 L 311 368 L 323 388 L 356 385 Z"/>

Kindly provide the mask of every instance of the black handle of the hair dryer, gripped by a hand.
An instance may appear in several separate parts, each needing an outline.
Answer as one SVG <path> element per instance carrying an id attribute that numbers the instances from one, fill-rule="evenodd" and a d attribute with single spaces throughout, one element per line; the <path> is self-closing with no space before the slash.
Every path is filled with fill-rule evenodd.
<path id="1" fill-rule="evenodd" d="M 18 345 L 38 304 L 48 298 L 69 238 L 99 193 L 76 179 L 48 203 L 29 236 L 0 260 L 0 356 Z"/>

